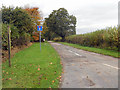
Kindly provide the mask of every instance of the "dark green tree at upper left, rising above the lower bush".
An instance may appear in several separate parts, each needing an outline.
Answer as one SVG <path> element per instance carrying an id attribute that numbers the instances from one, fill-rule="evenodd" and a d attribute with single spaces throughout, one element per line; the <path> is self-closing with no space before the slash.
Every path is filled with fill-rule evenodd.
<path id="1" fill-rule="evenodd" d="M 2 21 L 5 24 L 13 24 L 19 29 L 19 34 L 32 33 L 33 22 L 27 12 L 19 7 L 2 8 Z"/>

